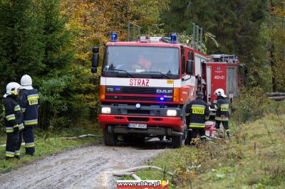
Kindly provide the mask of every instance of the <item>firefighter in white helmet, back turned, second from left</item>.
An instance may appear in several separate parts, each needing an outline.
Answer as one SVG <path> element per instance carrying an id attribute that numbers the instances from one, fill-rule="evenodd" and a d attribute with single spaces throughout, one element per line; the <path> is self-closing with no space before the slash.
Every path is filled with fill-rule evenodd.
<path id="1" fill-rule="evenodd" d="M 33 89 L 29 75 L 21 77 L 20 105 L 24 113 L 23 139 L 25 141 L 26 154 L 33 156 L 35 153 L 35 141 L 33 130 L 38 125 L 38 90 Z"/>

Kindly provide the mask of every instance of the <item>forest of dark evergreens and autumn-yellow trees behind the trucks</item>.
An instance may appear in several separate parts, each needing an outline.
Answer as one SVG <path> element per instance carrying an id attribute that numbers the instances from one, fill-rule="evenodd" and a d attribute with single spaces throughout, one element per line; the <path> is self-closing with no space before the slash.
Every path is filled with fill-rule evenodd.
<path id="1" fill-rule="evenodd" d="M 152 36 L 192 35 L 203 28 L 204 51 L 230 53 L 247 68 L 244 89 L 285 91 L 285 2 L 281 0 L 1 0 L 0 94 L 22 75 L 40 92 L 41 129 L 71 127 L 98 115 L 93 46 L 112 31 L 127 38 L 128 22 Z M 1 98 L 2 102 L 3 98 Z"/>

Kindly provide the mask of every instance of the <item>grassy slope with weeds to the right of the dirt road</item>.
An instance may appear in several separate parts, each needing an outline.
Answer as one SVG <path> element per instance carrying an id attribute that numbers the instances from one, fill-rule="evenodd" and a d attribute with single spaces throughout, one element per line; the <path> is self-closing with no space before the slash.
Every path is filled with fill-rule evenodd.
<path id="1" fill-rule="evenodd" d="M 232 122 L 229 143 L 214 141 L 199 148 L 167 150 L 147 162 L 175 176 L 153 170 L 138 171 L 138 176 L 166 178 L 170 188 L 285 188 L 284 122 L 284 114 L 239 126 Z"/>

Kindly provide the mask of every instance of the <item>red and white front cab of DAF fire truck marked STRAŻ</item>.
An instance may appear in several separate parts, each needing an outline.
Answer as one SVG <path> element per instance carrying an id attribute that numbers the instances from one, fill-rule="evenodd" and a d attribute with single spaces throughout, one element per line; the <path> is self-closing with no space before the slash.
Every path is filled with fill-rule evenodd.
<path id="1" fill-rule="evenodd" d="M 98 52 L 93 48 L 92 72 Z M 174 34 L 120 42 L 111 33 L 100 75 L 98 122 L 105 145 L 115 145 L 118 136 L 137 142 L 167 136 L 173 148 L 182 146 L 188 132 L 185 107 L 196 98 L 197 81 L 206 81 L 206 61 L 204 53 L 177 43 Z"/>

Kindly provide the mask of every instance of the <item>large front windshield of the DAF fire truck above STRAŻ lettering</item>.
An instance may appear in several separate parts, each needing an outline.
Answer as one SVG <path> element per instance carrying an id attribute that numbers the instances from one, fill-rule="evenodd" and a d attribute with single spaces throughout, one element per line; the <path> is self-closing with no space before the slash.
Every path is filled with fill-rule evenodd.
<path id="1" fill-rule="evenodd" d="M 179 75 L 179 49 L 142 46 L 108 46 L 105 50 L 103 74 L 114 75 L 124 70 L 143 77 L 174 78 Z M 125 74 L 127 76 L 127 74 Z"/>

